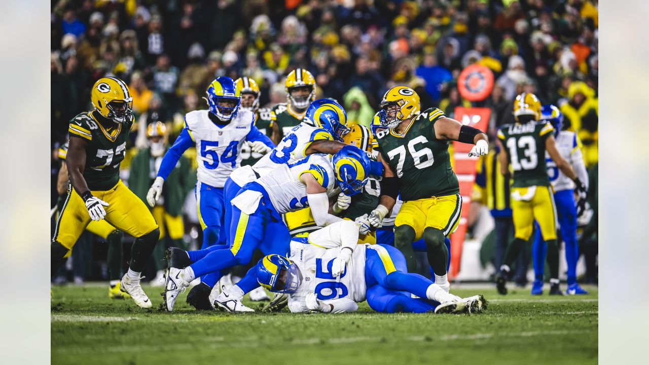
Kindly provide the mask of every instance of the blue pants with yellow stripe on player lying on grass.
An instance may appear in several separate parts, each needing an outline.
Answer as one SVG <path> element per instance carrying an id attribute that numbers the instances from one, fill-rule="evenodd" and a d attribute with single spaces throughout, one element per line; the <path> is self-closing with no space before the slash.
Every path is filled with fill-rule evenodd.
<path id="1" fill-rule="evenodd" d="M 408 273 L 406 258 L 395 247 L 376 246 L 378 247 L 365 249 L 367 304 L 377 312 L 384 313 L 422 313 L 435 310 L 437 303 L 425 299 L 426 290 L 433 282 L 421 275 Z M 386 254 L 395 271 L 387 272 L 386 268 L 392 268 L 386 267 L 386 257 L 381 257 Z M 411 293 L 424 299 L 411 298 Z"/>

